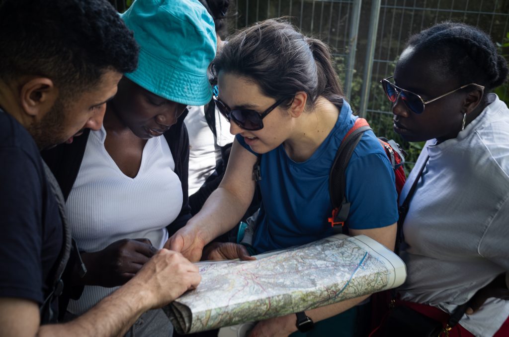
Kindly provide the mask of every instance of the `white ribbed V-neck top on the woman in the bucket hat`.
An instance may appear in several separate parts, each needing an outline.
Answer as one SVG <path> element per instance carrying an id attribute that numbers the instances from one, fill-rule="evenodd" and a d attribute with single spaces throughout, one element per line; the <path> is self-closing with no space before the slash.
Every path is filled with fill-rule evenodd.
<path id="1" fill-rule="evenodd" d="M 182 209 L 182 186 L 164 136 L 147 141 L 138 174 L 128 177 L 104 148 L 106 131 L 91 131 L 66 212 L 80 251 L 94 252 L 121 239 L 147 238 L 158 249 L 166 226 Z M 86 286 L 68 310 L 81 315 L 115 288 Z"/>

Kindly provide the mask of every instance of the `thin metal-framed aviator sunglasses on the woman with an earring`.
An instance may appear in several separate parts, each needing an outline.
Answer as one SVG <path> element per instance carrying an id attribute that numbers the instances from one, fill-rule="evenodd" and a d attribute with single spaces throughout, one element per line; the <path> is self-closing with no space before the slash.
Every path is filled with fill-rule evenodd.
<path id="1" fill-rule="evenodd" d="M 387 77 L 386 79 L 383 79 L 380 81 L 380 83 L 382 84 L 382 88 L 385 91 L 385 94 L 387 95 L 387 98 L 389 98 L 389 100 L 394 103 L 396 100 L 398 100 L 398 97 L 401 97 L 401 99 L 403 100 L 405 105 L 408 107 L 408 109 L 412 110 L 416 114 L 421 114 L 424 111 L 424 108 L 428 103 L 434 102 L 435 100 L 437 100 L 439 98 L 445 97 L 448 94 L 451 94 L 453 92 L 456 92 L 456 91 L 466 88 L 468 86 L 476 86 L 476 87 L 480 88 L 481 90 L 484 90 L 484 87 L 481 85 L 478 85 L 475 83 L 469 83 L 469 84 L 465 84 L 465 85 L 459 87 L 458 89 L 448 91 L 445 94 L 435 97 L 433 99 L 423 100 L 416 93 L 402 89 L 402 88 L 397 87 L 396 85 L 390 83 L 388 80 L 391 79 L 392 77 L 394 77 L 394 76 Z"/>

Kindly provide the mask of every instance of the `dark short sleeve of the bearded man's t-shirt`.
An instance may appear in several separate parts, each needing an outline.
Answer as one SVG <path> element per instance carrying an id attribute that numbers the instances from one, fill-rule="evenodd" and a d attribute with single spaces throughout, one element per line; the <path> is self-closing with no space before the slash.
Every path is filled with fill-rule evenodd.
<path id="1" fill-rule="evenodd" d="M 41 177 L 19 148 L 0 148 L 0 158 L 0 297 L 41 303 Z"/>

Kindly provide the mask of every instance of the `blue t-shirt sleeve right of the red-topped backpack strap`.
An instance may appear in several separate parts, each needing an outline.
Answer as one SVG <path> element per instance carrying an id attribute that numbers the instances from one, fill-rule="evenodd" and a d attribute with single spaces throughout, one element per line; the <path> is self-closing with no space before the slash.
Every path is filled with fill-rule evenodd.
<path id="1" fill-rule="evenodd" d="M 348 226 L 370 229 L 397 222 L 398 194 L 394 182 L 394 170 L 382 151 L 352 156 L 346 171 Z"/>

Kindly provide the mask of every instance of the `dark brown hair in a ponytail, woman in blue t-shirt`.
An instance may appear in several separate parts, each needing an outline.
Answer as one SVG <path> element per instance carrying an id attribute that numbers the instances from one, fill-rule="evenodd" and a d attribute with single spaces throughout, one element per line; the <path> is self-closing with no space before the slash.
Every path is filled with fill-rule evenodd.
<path id="1" fill-rule="evenodd" d="M 327 45 L 305 37 L 281 19 L 258 22 L 230 37 L 209 71 L 213 79 L 220 71 L 245 76 L 266 96 L 288 98 L 284 102 L 287 107 L 298 91 L 307 94 L 308 107 L 313 107 L 319 96 L 335 105 L 343 103 Z"/>

